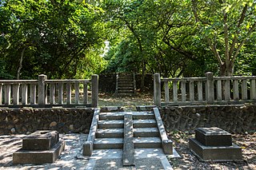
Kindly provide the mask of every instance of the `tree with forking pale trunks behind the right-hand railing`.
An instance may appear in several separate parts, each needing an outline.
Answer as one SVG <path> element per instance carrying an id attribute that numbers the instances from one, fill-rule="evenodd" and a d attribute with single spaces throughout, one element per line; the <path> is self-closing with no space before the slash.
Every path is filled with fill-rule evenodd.
<path id="1" fill-rule="evenodd" d="M 220 76 L 232 76 L 238 54 L 256 27 L 256 2 L 192 0 L 191 7 L 202 38 L 218 61 Z"/>

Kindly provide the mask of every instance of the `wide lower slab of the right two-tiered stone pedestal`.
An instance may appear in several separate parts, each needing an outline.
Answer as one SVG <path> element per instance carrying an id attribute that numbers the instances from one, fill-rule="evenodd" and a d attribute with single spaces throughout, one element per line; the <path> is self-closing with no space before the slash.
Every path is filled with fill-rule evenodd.
<path id="1" fill-rule="evenodd" d="M 190 149 L 202 161 L 241 161 L 242 148 L 232 146 L 204 146 L 190 138 Z"/>

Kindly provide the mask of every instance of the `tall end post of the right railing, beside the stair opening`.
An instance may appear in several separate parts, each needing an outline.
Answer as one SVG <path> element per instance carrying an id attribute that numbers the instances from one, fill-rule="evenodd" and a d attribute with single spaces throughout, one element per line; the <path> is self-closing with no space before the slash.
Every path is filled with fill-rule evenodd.
<path id="1" fill-rule="evenodd" d="M 154 105 L 161 106 L 160 73 L 154 73 Z"/>

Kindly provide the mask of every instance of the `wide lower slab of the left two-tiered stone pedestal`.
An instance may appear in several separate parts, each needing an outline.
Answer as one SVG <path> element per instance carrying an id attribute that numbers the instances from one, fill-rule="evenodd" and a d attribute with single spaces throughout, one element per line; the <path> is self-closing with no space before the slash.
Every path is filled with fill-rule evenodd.
<path id="1" fill-rule="evenodd" d="M 60 140 L 50 150 L 28 151 L 19 149 L 13 153 L 13 164 L 45 164 L 54 163 L 65 148 L 65 141 Z"/>

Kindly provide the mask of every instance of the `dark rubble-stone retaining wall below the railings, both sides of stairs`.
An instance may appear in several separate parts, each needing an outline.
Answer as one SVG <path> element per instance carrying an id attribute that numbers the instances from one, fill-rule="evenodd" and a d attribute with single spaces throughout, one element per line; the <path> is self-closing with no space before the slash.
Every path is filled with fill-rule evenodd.
<path id="1" fill-rule="evenodd" d="M 167 131 L 218 127 L 256 132 L 256 105 L 202 105 L 159 108 Z M 36 130 L 89 132 L 93 109 L 0 109 L 0 135 Z"/>

